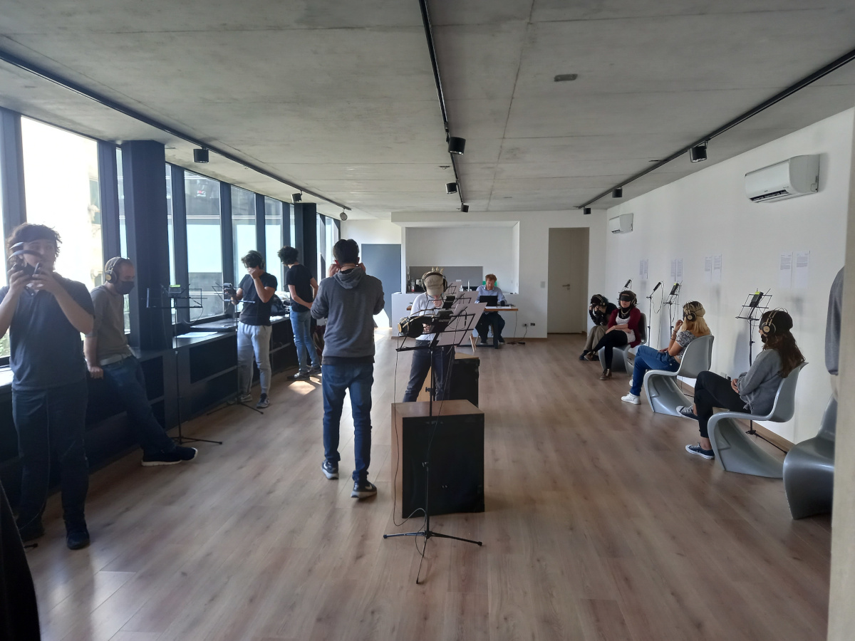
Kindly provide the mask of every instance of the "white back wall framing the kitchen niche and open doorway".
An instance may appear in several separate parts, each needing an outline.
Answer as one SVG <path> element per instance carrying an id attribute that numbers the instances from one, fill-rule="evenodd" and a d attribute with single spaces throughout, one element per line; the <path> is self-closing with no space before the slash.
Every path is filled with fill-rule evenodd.
<path id="1" fill-rule="evenodd" d="M 448 226 L 453 226 L 459 224 L 460 212 L 393 212 L 392 221 L 404 226 L 404 235 L 409 241 L 410 234 L 418 227 L 408 225 L 430 222 L 433 225 L 445 226 L 447 223 Z M 603 256 L 606 240 L 604 210 L 595 209 L 593 214 L 587 216 L 578 209 L 522 213 L 469 213 L 467 221 L 482 224 L 496 221 L 518 223 L 518 225 L 510 227 L 511 238 L 514 238 L 515 234 L 519 238 L 517 245 L 519 248 L 519 296 L 515 297 L 515 302 L 520 307 L 518 314 L 520 326 L 525 322 L 535 323 L 534 327 L 528 328 L 528 337 L 546 338 L 546 279 L 548 278 L 550 227 L 590 227 L 588 294 L 590 296 L 603 290 L 605 281 Z M 516 232 L 513 231 L 515 228 Z M 473 247 L 478 244 L 479 242 L 476 241 L 472 243 Z M 496 275 L 498 276 L 498 272 Z"/>

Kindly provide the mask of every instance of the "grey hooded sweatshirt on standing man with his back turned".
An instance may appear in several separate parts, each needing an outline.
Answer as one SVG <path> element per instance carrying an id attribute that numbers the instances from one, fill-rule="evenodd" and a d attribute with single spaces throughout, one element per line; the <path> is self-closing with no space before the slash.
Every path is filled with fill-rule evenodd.
<path id="1" fill-rule="evenodd" d="M 339 358 L 374 362 L 374 315 L 383 309 L 383 284 L 361 268 L 321 280 L 312 318 L 327 319 L 322 362 Z"/>

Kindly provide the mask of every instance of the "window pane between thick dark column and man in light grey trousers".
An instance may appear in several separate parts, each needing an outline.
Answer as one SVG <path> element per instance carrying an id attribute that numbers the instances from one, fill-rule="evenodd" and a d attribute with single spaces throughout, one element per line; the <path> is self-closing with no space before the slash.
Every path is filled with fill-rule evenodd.
<path id="1" fill-rule="evenodd" d="M 203 309 L 191 309 L 191 321 L 224 313 L 220 183 L 184 173 L 187 206 L 187 268 L 190 287 L 202 290 Z"/>

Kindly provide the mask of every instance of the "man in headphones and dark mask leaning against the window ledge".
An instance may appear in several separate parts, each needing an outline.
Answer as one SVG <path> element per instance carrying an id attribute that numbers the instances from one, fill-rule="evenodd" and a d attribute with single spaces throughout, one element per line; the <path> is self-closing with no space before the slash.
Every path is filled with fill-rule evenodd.
<path id="1" fill-rule="evenodd" d="M 121 400 L 143 450 L 143 465 L 173 465 L 190 461 L 197 450 L 175 444 L 151 411 L 143 368 L 125 336 L 125 296 L 133 290 L 133 262 L 116 256 L 104 266 L 103 285 L 91 291 L 95 309 L 92 331 L 85 335 L 86 368 L 93 379 L 103 379 Z"/>

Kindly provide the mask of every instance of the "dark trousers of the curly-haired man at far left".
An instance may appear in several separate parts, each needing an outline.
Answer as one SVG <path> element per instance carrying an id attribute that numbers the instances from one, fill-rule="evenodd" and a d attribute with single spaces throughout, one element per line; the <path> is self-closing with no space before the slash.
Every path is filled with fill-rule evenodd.
<path id="1" fill-rule="evenodd" d="M 21 505 L 18 526 L 38 524 L 50 485 L 50 458 L 60 465 L 62 515 L 68 529 L 85 526 L 89 464 L 83 436 L 86 381 L 46 390 L 12 391 L 12 417 L 21 456 Z"/>

